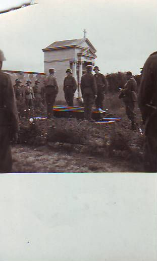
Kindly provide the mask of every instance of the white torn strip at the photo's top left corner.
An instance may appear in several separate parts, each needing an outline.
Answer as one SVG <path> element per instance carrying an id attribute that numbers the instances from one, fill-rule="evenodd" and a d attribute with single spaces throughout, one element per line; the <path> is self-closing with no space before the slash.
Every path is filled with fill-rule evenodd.
<path id="1" fill-rule="evenodd" d="M 11 11 L 15 11 L 17 9 L 21 9 L 24 7 L 28 7 L 28 6 L 32 6 L 32 5 L 37 5 L 37 3 L 35 3 L 34 0 L 31 1 L 12 1 L 12 4 L 9 5 L 9 3 L 7 2 L 6 5 L 1 5 L 0 7 L 0 14 L 4 14 L 4 13 L 8 13 Z"/>

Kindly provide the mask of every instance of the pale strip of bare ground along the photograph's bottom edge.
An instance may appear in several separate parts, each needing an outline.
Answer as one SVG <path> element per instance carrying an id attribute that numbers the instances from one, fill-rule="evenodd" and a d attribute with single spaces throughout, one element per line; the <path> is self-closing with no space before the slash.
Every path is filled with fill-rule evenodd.
<path id="1" fill-rule="evenodd" d="M 47 146 L 15 145 L 13 173 L 138 172 L 127 161 L 102 159 L 81 153 L 52 151 Z"/>

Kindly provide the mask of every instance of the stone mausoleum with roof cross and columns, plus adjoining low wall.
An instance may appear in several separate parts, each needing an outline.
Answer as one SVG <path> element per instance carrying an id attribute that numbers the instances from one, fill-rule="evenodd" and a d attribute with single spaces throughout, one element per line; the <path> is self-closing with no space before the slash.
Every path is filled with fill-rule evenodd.
<path id="1" fill-rule="evenodd" d="M 84 30 L 84 38 L 56 41 L 43 48 L 44 73 L 11 70 L 3 71 L 10 74 L 13 84 L 17 78 L 20 79 L 24 85 L 26 84 L 26 81 L 30 79 L 33 86 L 35 80 L 38 79 L 40 80 L 40 85 L 43 86 L 44 78 L 48 75 L 48 69 L 55 68 L 55 76 L 57 77 L 59 85 L 57 100 L 64 100 L 63 82 L 67 75 L 67 68 L 71 68 L 73 76 L 78 83 L 78 89 L 76 90 L 74 97 L 81 97 L 81 76 L 85 72 L 86 65 L 94 65 L 94 59 L 96 58 L 96 49 L 88 38 L 86 38 L 85 33 L 86 31 Z"/>

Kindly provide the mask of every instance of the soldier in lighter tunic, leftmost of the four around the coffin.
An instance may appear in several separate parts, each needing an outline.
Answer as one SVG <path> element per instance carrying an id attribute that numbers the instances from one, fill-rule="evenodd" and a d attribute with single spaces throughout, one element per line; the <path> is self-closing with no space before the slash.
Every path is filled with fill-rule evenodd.
<path id="1" fill-rule="evenodd" d="M 59 88 L 57 84 L 57 79 L 54 76 L 55 69 L 49 69 L 49 76 L 45 78 L 45 100 L 47 105 L 47 119 L 53 118 L 53 107 L 55 103 L 56 96 L 58 94 Z"/>

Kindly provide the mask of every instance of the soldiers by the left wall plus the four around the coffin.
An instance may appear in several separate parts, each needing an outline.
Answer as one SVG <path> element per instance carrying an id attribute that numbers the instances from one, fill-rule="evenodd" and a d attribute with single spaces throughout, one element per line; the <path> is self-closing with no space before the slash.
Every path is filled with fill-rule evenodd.
<path id="1" fill-rule="evenodd" d="M 94 70 L 95 75 L 92 74 Z M 104 88 L 108 87 L 108 81 L 103 74 L 99 73 L 97 66 L 86 66 L 86 73 L 81 78 L 81 91 L 84 100 L 84 118 L 85 120 L 93 121 L 91 119 L 91 109 L 95 102 L 97 109 L 103 109 Z M 59 91 L 57 78 L 54 76 L 55 69 L 49 69 L 49 75 L 45 77 L 44 85 L 41 87 L 39 80 L 35 81 L 32 87 L 31 81 L 27 80 L 26 85 L 22 85 L 19 79 L 15 80 L 14 91 L 17 102 L 19 115 L 24 109 L 42 108 L 44 101 L 47 107 L 47 118 L 53 117 L 53 107 Z M 77 89 L 77 82 L 72 76 L 72 70 L 66 70 L 67 76 L 63 82 L 63 90 L 65 100 L 69 107 L 73 107 L 74 93 Z"/>

